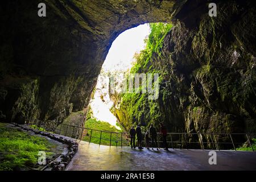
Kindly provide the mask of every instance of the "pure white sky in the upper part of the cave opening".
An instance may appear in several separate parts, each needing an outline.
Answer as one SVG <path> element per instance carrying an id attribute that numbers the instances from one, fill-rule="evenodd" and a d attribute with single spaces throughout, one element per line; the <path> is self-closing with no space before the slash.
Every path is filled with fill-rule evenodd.
<path id="1" fill-rule="evenodd" d="M 113 42 L 102 66 L 104 71 L 126 71 L 131 68 L 135 52 L 141 51 L 144 39 L 150 34 L 149 24 L 142 24 L 122 32 Z"/>

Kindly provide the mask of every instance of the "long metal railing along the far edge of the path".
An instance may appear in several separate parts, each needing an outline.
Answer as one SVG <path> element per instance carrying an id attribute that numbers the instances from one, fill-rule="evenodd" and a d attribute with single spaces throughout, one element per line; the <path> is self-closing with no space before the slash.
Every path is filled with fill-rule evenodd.
<path id="1" fill-rule="evenodd" d="M 85 140 L 89 143 L 109 146 L 129 146 L 130 138 L 127 132 L 112 132 L 88 129 L 86 127 L 56 123 L 55 121 L 40 121 L 32 119 L 26 125 L 50 133 L 64 135 L 75 139 Z M 144 133 L 143 133 L 144 134 Z M 247 133 L 167 133 L 168 148 L 185 148 L 201 150 L 235 150 L 247 144 L 254 151 L 251 138 L 256 134 Z M 163 137 L 157 134 L 157 143 L 163 147 Z M 145 145 L 145 140 L 142 140 Z M 152 142 L 150 140 L 150 146 Z M 154 146 L 156 147 L 156 146 Z"/>

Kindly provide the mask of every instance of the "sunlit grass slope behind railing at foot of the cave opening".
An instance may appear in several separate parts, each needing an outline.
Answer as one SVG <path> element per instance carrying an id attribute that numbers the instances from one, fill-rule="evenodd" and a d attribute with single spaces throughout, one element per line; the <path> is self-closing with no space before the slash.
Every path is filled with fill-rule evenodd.
<path id="1" fill-rule="evenodd" d="M 90 118 L 85 122 L 85 127 L 89 129 L 94 129 L 94 130 L 101 130 L 101 131 L 111 131 L 111 132 L 122 132 L 122 130 L 116 129 L 114 126 L 110 125 L 108 122 L 102 122 L 98 121 L 95 118 Z M 105 132 L 100 132 L 100 131 L 91 131 L 89 130 L 86 137 L 84 137 L 83 140 L 89 142 L 90 140 L 90 135 L 92 135 L 92 138 L 90 142 L 96 143 L 96 144 L 103 144 L 103 145 L 109 145 L 110 144 L 110 137 L 112 138 L 111 145 L 112 146 L 121 146 L 121 134 L 110 134 L 110 133 L 105 133 Z M 101 141 L 100 141 L 101 137 Z M 123 138 L 124 140 L 124 138 Z M 118 141 L 116 143 L 116 141 Z"/>

